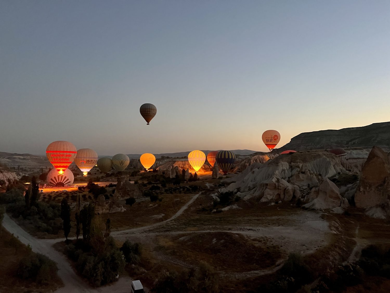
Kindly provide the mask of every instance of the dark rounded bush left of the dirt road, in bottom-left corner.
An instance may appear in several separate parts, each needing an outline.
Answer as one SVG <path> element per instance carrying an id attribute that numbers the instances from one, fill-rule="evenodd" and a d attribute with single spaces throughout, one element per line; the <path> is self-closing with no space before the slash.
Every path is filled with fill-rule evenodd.
<path id="1" fill-rule="evenodd" d="M 43 254 L 31 252 L 19 262 L 17 271 L 21 279 L 32 279 L 39 284 L 48 283 L 55 278 L 57 264 Z"/>

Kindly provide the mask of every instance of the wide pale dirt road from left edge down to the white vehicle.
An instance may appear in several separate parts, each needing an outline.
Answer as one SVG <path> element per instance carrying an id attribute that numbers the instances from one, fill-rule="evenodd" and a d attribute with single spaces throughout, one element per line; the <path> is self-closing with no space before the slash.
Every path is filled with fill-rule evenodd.
<path id="1" fill-rule="evenodd" d="M 46 255 L 57 263 L 58 276 L 64 282 L 64 287 L 56 290 L 57 293 L 124 293 L 129 292 L 131 288 L 131 279 L 128 276 L 121 276 L 119 280 L 110 286 L 101 288 L 92 288 L 84 282 L 76 273 L 67 261 L 66 257 L 60 252 L 55 250 L 51 243 L 44 241 L 43 239 L 37 239 L 25 230 L 23 230 L 18 224 L 16 224 L 7 214 L 4 214 L 2 222 L 5 229 L 14 236 L 18 237 L 19 240 L 25 245 L 30 244 L 34 252 L 38 252 Z"/>

